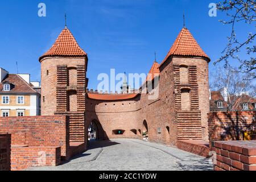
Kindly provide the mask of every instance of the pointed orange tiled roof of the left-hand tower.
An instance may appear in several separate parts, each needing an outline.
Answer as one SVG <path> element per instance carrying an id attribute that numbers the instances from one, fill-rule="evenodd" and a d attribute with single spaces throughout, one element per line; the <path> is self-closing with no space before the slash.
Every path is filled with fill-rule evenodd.
<path id="1" fill-rule="evenodd" d="M 77 44 L 76 39 L 67 27 L 60 33 L 53 46 L 39 58 L 49 56 L 86 56 L 84 50 Z"/>

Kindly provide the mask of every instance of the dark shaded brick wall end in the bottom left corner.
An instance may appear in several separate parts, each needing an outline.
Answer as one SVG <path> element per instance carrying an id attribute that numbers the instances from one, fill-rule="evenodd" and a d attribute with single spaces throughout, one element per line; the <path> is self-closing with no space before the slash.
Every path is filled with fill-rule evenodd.
<path id="1" fill-rule="evenodd" d="M 0 134 L 0 171 L 11 169 L 11 135 Z"/>

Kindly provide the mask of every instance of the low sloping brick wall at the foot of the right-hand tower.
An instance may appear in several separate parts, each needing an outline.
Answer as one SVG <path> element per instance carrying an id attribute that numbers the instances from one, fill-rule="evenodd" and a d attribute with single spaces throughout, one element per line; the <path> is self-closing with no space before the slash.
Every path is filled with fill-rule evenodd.
<path id="1" fill-rule="evenodd" d="M 203 140 L 178 140 L 177 148 L 192 154 L 203 156 L 204 158 L 209 157 L 209 143 Z"/>

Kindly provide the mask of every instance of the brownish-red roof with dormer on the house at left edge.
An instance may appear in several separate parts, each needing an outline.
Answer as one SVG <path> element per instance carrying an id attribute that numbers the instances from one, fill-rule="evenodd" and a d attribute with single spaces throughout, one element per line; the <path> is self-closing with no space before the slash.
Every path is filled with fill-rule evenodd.
<path id="1" fill-rule="evenodd" d="M 10 91 L 3 91 L 3 83 L 9 82 L 11 84 Z M 36 93 L 30 84 L 28 84 L 22 77 L 16 74 L 8 74 L 0 83 L 0 93 Z"/>

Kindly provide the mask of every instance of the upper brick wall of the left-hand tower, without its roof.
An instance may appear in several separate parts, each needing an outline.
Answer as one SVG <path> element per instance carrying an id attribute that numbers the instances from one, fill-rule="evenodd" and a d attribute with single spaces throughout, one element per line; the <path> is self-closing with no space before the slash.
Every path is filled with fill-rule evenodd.
<path id="1" fill-rule="evenodd" d="M 67 111 L 68 90 L 77 91 L 77 110 L 84 111 L 86 65 L 86 57 L 46 57 L 42 60 L 42 115 L 53 115 L 55 111 Z M 75 72 L 68 71 L 74 68 L 76 68 Z M 74 74 L 77 76 L 77 81 Z M 71 85 L 68 83 L 69 77 Z M 74 85 L 75 83 L 77 85 Z M 83 102 L 82 105 L 81 102 Z"/>

